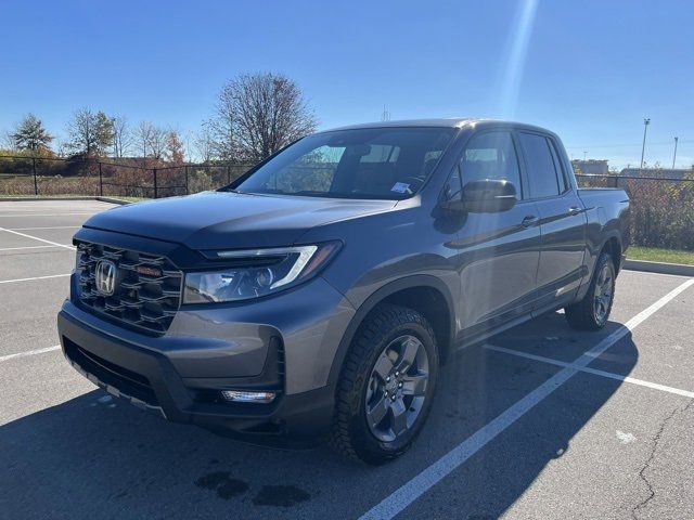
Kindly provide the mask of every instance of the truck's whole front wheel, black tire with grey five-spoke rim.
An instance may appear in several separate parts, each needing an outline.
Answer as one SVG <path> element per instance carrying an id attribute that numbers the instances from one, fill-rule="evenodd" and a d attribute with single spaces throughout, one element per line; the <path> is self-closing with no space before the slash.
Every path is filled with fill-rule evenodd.
<path id="1" fill-rule="evenodd" d="M 332 444 L 369 464 L 402 454 L 426 420 L 437 374 L 436 338 L 426 318 L 398 306 L 374 310 L 345 359 Z"/>

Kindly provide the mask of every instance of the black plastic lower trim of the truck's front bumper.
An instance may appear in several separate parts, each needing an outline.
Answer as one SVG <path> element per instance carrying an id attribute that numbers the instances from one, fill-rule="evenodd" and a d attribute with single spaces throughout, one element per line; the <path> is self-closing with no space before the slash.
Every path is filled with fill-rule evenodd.
<path id="1" fill-rule="evenodd" d="M 262 405 L 200 402 L 196 400 L 200 387 L 191 387 L 191 382 L 195 385 L 201 381 L 181 378 L 165 353 L 106 335 L 65 310 L 57 316 L 57 328 L 63 353 L 78 372 L 110 393 L 140 408 L 157 412 L 168 420 L 197 425 L 250 442 L 272 444 L 282 444 L 282 441 L 277 442 L 278 437 L 287 441 L 313 439 L 330 429 L 334 407 L 332 387 L 299 394 L 281 393 L 272 403 Z M 154 399 L 140 394 L 137 387 L 128 388 L 117 379 L 111 379 L 110 373 L 91 374 L 89 367 L 80 366 L 79 358 L 70 356 L 70 343 L 102 362 L 112 364 L 112 372 L 115 374 L 120 372 L 142 376 L 151 385 Z M 205 386 L 214 388 L 215 379 L 206 379 Z M 234 388 L 233 380 L 220 378 L 218 388 Z M 268 435 L 274 440 L 266 442 L 260 439 Z"/>

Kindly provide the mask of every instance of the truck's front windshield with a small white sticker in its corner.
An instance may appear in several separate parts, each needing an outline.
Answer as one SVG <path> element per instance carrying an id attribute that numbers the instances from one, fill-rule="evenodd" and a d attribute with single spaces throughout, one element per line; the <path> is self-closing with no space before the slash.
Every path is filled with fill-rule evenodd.
<path id="1" fill-rule="evenodd" d="M 416 193 L 452 128 L 369 128 L 309 135 L 230 187 L 241 193 L 399 200 Z"/>

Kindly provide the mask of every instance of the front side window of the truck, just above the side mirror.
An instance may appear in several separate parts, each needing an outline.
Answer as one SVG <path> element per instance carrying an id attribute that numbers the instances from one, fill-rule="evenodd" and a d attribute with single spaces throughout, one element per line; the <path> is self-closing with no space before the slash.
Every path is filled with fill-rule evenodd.
<path id="1" fill-rule="evenodd" d="M 484 179 L 505 179 L 516 186 L 520 198 L 518 159 L 509 132 L 487 132 L 472 138 L 460 166 L 464 184 Z"/>

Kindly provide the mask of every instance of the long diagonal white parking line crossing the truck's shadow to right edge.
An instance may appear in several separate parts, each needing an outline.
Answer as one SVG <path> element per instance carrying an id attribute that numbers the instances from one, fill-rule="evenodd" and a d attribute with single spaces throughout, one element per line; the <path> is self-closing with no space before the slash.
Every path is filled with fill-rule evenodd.
<path id="1" fill-rule="evenodd" d="M 552 392 L 554 392 L 554 390 L 564 385 L 575 374 L 578 374 L 578 367 L 587 366 L 593 361 L 595 355 L 606 351 L 619 339 L 624 338 L 627 334 L 643 323 L 644 320 L 648 318 L 693 284 L 694 280 L 687 280 L 658 301 L 641 311 L 624 326 L 616 329 L 590 351 L 574 361 L 571 365 L 576 365 L 576 367 L 567 366 L 562 368 L 550 379 L 520 399 L 520 401 L 501 413 L 501 415 L 497 416 L 490 422 L 477 430 L 453 450 L 439 458 L 436 463 L 424 469 L 420 474 L 406 482 L 402 486 L 398 487 L 390 495 L 381 500 L 381 503 L 368 510 L 360 517 L 360 520 L 384 520 L 394 518 L 429 489 L 436 485 L 436 483 L 448 476 L 451 471 L 457 469 L 475 453 L 485 447 L 497 435 L 532 410 L 534 406 L 547 399 Z"/>

